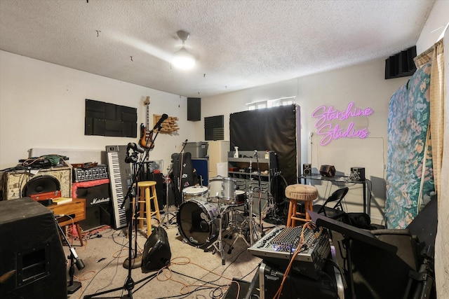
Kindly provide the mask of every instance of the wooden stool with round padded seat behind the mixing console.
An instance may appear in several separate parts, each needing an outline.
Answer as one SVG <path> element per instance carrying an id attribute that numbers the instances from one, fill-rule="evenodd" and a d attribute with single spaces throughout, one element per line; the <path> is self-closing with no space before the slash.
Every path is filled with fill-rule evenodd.
<path id="1" fill-rule="evenodd" d="M 318 190 L 316 190 L 316 187 L 302 185 L 300 183 L 290 185 L 286 188 L 286 197 L 290 200 L 286 226 L 288 228 L 293 228 L 296 221 L 309 221 L 310 215 L 307 210 L 314 210 L 312 202 L 318 197 Z M 297 211 L 297 202 L 304 202 L 305 213 Z"/>

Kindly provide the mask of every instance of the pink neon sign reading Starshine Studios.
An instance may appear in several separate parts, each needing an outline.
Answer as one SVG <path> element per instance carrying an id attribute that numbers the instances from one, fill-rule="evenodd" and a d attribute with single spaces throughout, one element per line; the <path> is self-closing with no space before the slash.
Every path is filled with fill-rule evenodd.
<path id="1" fill-rule="evenodd" d="M 312 118 L 317 118 L 315 122 L 316 134 L 322 137 L 320 144 L 327 146 L 331 141 L 340 138 L 360 138 L 365 139 L 370 132 L 368 127 L 358 128 L 354 121 L 349 121 L 347 125 L 342 125 L 344 120 L 352 120 L 361 116 L 370 116 L 373 109 L 359 109 L 350 102 L 343 111 L 335 110 L 333 106 L 319 106 L 313 113 Z M 340 121 L 339 123 L 337 123 Z M 347 123 L 347 122 L 346 122 Z"/>

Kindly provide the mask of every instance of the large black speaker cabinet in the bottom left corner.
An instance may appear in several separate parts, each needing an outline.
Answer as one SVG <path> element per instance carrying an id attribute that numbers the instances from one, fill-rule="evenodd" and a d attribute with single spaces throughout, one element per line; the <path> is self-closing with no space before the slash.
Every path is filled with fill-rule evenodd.
<path id="1" fill-rule="evenodd" d="M 0 298 L 67 298 L 66 257 L 50 209 L 29 197 L 1 201 L 0 239 Z"/>

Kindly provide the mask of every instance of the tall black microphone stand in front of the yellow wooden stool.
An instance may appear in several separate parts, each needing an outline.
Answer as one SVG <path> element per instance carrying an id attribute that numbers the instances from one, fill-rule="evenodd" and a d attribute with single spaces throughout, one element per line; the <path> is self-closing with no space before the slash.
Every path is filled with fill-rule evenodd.
<path id="1" fill-rule="evenodd" d="M 156 140 L 157 135 L 159 134 L 159 131 L 161 130 L 161 122 L 158 123 L 158 125 L 156 125 L 156 127 L 159 129 L 156 132 L 156 136 L 152 139 L 152 143 L 150 144 L 150 146 L 147 148 L 147 150 L 145 151 L 145 157 L 141 160 L 144 161 L 146 160 L 148 153 L 149 153 L 149 149 L 152 148 L 152 145 L 154 144 L 154 140 Z M 154 127 L 153 130 L 156 130 L 156 127 Z M 148 143 L 148 142 L 147 142 Z M 128 148 L 129 151 L 129 148 Z M 128 277 L 126 277 L 126 281 L 125 284 L 123 284 L 122 287 L 119 288 L 112 288 L 110 290 L 107 291 L 102 291 L 100 293 L 95 293 L 92 295 L 85 295 L 84 299 L 91 299 L 91 298 L 97 298 L 96 296 L 98 295 L 103 295 L 106 293 L 112 293 L 114 291 L 120 291 L 120 290 L 126 290 L 128 291 L 127 295 L 123 295 L 121 296 L 121 299 L 132 299 L 133 298 L 133 288 L 135 286 L 135 284 L 138 284 L 142 281 L 145 281 L 149 278 L 153 278 L 156 276 L 156 274 L 152 274 L 149 277 L 145 277 L 144 279 L 140 279 L 140 281 L 135 282 L 133 280 L 132 277 L 132 270 L 133 267 L 140 267 L 140 265 L 138 263 L 135 263 L 135 260 L 137 260 L 138 256 L 137 256 L 137 235 L 135 238 L 135 256 L 134 256 L 134 260 L 133 260 L 133 249 L 132 249 L 132 244 L 133 244 L 133 217 L 132 217 L 132 212 L 134 211 L 134 223 L 135 223 L 135 232 L 137 232 L 137 228 L 138 228 L 138 196 L 139 196 L 139 188 L 138 188 L 138 177 L 140 172 L 143 169 L 143 164 L 140 163 L 139 167 L 137 167 L 138 165 L 138 151 L 133 151 L 132 155 L 129 155 L 129 153 L 126 154 L 126 158 L 125 158 L 125 162 L 130 163 L 133 162 L 133 182 L 131 183 L 130 187 L 128 188 L 128 192 L 126 193 L 126 196 L 124 197 L 123 200 L 123 204 L 121 205 L 121 208 L 123 209 L 124 205 L 126 204 L 126 200 L 129 200 L 130 197 L 132 197 L 132 190 L 133 190 L 133 186 L 135 186 L 137 193 L 135 194 L 135 201 L 134 201 L 134 209 L 132 209 L 131 207 L 131 202 L 129 201 L 128 204 L 128 212 L 126 213 L 126 218 L 128 219 L 128 263 L 126 263 L 126 260 L 123 262 L 123 267 L 125 267 L 126 265 L 128 265 Z M 142 263 L 142 260 L 140 260 L 140 264 Z"/>

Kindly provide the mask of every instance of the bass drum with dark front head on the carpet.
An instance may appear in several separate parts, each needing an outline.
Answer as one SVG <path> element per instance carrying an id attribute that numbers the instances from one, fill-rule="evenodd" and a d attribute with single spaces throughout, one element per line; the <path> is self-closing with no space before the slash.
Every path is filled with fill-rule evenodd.
<path id="1" fill-rule="evenodd" d="M 217 239 L 220 233 L 218 207 L 202 200 L 189 200 L 180 204 L 177 211 L 177 229 L 184 239 L 194 246 L 201 246 Z M 229 224 L 228 212 L 222 210 L 222 230 Z"/>

